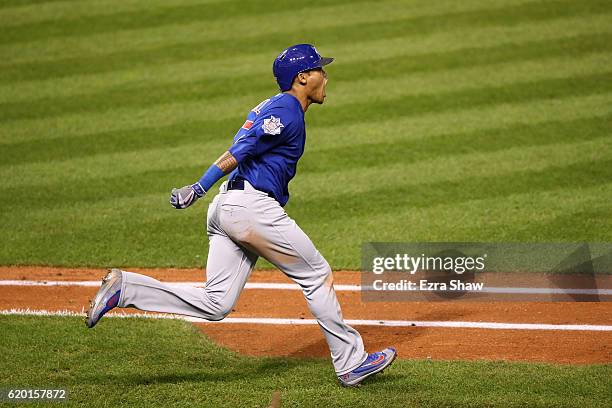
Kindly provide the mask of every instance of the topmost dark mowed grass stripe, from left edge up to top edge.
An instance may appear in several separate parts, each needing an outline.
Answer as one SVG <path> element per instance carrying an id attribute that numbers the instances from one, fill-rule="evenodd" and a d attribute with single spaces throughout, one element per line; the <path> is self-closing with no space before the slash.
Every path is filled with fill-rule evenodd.
<path id="1" fill-rule="evenodd" d="M 312 12 L 324 13 L 325 10 L 319 10 L 319 8 L 345 3 L 359 7 L 360 1 L 317 0 L 316 7 L 314 7 Z M 24 44 L 37 40 L 49 41 L 49 39 L 55 37 L 94 36 L 111 32 L 135 31 L 165 26 L 169 23 L 173 25 L 210 24 L 215 21 L 229 23 L 236 16 L 249 16 L 252 19 L 261 19 L 265 15 L 270 14 L 271 10 L 274 13 L 286 13 L 296 9 L 296 4 L 293 2 L 278 2 L 271 8 L 270 2 L 265 0 L 249 0 L 246 2 L 233 0 L 191 4 L 167 3 L 141 7 L 137 10 L 117 10 L 113 13 L 108 13 L 109 9 L 112 10 L 112 5 L 109 6 L 107 6 L 106 13 L 92 16 L 85 13 L 85 15 L 81 14 L 79 18 L 74 18 L 74 16 L 63 18 L 60 16 L 51 21 L 17 26 L 0 25 L 0 44 Z M 300 10 L 298 10 L 299 12 Z"/>

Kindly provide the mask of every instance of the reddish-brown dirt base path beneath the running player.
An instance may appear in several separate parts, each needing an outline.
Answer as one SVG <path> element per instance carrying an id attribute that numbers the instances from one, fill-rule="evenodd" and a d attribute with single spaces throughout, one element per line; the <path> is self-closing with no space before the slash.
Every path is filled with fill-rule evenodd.
<path id="1" fill-rule="evenodd" d="M 125 269 L 168 282 L 204 280 L 204 273 L 199 269 Z M 17 282 L 2 285 L 0 282 L 0 310 L 29 308 L 81 312 L 97 290 L 96 287 L 87 286 L 87 281 L 98 281 L 104 274 L 105 271 L 101 269 L 0 267 L 0 281 L 24 281 L 23 285 Z M 64 281 L 69 282 L 70 286 L 31 286 L 26 285 L 25 281 Z M 359 272 L 334 272 L 334 281 L 339 288 L 341 285 L 359 284 Z M 291 281 L 278 271 L 256 271 L 249 283 L 287 284 Z M 338 290 L 338 298 L 344 317 L 349 320 L 612 325 L 612 304 L 609 302 L 362 302 L 360 293 L 354 290 Z M 130 309 L 124 310 L 132 312 Z M 249 319 L 257 318 L 311 319 L 306 302 L 298 290 L 246 289 L 230 317 L 247 319 L 241 323 L 195 324 L 218 344 L 243 354 L 288 357 L 329 355 L 323 335 L 316 325 L 250 323 Z M 394 345 L 400 358 L 570 364 L 612 362 L 612 331 L 609 330 L 371 325 L 356 325 L 356 328 L 362 334 L 368 350 Z"/>

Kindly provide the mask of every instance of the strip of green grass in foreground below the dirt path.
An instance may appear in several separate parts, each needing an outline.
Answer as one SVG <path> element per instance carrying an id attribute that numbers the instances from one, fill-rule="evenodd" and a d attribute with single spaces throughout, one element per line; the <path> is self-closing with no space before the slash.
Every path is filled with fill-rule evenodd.
<path id="1" fill-rule="evenodd" d="M 0 388 L 67 389 L 62 406 L 604 407 L 612 366 L 396 361 L 344 389 L 326 359 L 246 358 L 180 321 L 0 316 Z M 384 403 L 383 403 L 384 401 Z M 382 405 L 381 405 L 382 404 Z"/>

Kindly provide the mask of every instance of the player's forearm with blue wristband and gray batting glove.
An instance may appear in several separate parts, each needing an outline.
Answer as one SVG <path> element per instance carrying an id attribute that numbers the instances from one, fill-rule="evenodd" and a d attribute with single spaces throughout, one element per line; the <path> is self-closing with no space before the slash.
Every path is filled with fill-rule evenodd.
<path id="1" fill-rule="evenodd" d="M 238 167 L 238 161 L 229 151 L 226 151 L 194 184 L 172 189 L 170 204 L 176 209 L 189 207 L 203 197 L 221 177 L 232 172 L 236 167 Z"/>

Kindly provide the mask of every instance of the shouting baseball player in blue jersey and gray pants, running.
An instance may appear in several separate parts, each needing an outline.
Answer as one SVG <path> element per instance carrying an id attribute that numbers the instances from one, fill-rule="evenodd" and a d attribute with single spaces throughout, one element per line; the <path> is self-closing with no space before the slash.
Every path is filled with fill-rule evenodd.
<path id="1" fill-rule="evenodd" d="M 302 288 L 327 340 L 341 384 L 357 385 L 393 362 L 396 351 L 392 347 L 365 352 L 359 333 L 342 318 L 329 264 L 283 210 L 289 200 L 289 181 L 304 152 L 304 114 L 312 103 L 325 100 L 323 66 L 332 61 L 310 44 L 281 52 L 273 64 L 281 93 L 249 112 L 232 146 L 200 180 L 172 190 L 170 204 L 184 209 L 229 174 L 208 207 L 205 287 L 170 286 L 113 269 L 90 305 L 88 327 L 115 307 L 221 320 L 232 310 L 261 256 Z"/>

